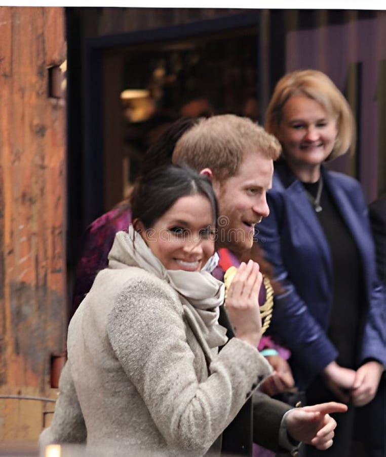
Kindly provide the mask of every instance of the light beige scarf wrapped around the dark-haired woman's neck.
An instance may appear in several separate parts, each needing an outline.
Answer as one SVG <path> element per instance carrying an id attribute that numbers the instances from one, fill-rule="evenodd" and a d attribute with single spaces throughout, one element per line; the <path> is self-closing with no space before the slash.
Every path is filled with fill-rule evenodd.
<path id="1" fill-rule="evenodd" d="M 226 343 L 226 329 L 218 322 L 219 306 L 224 302 L 224 284 L 208 271 L 167 270 L 151 252 L 132 224 L 128 232 L 118 232 L 108 254 L 109 268 L 122 264 L 139 267 L 168 282 L 190 308 L 208 346 Z"/>

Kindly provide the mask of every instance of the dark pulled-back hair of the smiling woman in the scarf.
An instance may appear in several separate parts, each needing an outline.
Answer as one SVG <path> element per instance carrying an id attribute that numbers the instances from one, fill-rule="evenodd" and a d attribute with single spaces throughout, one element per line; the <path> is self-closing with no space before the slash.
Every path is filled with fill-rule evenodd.
<path id="1" fill-rule="evenodd" d="M 132 220 L 138 219 L 146 229 L 151 228 L 179 198 L 196 194 L 209 200 L 216 223 L 217 200 L 209 178 L 174 165 L 151 170 L 134 185 L 130 198 Z"/>

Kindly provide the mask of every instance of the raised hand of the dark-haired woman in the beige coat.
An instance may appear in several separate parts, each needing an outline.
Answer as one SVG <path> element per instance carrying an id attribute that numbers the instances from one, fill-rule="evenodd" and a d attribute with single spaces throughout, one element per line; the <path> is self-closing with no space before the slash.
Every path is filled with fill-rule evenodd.
<path id="1" fill-rule="evenodd" d="M 259 265 L 242 262 L 227 289 L 225 307 L 236 338 L 257 347 L 262 335 L 259 291 L 262 283 Z"/>

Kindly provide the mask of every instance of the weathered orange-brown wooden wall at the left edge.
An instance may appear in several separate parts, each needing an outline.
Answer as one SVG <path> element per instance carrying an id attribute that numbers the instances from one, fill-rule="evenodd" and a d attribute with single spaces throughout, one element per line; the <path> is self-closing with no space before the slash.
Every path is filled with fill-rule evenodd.
<path id="1" fill-rule="evenodd" d="M 54 397 L 65 349 L 63 8 L 0 8 L 0 394 Z M 0 399 L 0 441 L 35 440 L 50 404 Z"/>

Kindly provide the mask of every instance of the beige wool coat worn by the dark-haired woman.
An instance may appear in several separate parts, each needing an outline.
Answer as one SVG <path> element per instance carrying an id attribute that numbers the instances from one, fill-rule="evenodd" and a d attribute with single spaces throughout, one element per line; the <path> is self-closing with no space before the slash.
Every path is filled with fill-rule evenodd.
<path id="1" fill-rule="evenodd" d="M 119 257 L 97 275 L 70 322 L 60 395 L 41 444 L 87 437 L 98 455 L 215 451 L 272 369 L 237 338 L 219 353 L 210 349 L 178 293 Z"/>

